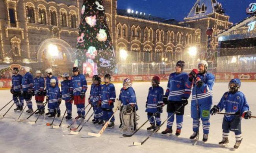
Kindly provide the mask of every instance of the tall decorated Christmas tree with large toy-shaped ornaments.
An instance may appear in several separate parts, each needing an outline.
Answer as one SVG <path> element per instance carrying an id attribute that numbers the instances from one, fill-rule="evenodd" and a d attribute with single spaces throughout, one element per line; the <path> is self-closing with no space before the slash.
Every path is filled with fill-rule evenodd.
<path id="1" fill-rule="evenodd" d="M 115 53 L 104 11 L 103 0 L 83 1 L 74 65 L 90 76 L 111 74 L 115 68 Z"/>

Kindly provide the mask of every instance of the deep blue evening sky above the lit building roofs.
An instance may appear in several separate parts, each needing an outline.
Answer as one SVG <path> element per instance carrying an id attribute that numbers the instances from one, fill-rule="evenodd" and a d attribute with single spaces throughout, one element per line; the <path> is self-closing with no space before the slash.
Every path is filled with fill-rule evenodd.
<path id="1" fill-rule="evenodd" d="M 197 0 L 117 0 L 118 9 L 133 9 L 157 17 L 183 20 Z M 248 17 L 245 9 L 256 0 L 217 0 L 234 24 Z"/>

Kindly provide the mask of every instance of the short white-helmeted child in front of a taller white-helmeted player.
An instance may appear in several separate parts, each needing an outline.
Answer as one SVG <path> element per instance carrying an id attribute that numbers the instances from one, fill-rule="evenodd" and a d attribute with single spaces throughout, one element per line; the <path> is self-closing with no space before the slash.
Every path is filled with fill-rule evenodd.
<path id="1" fill-rule="evenodd" d="M 60 114 L 59 105 L 61 103 L 59 86 L 56 83 L 56 79 L 50 80 L 51 86 L 48 88 L 46 101 L 48 101 L 48 109 L 50 111 L 49 118 L 54 117 L 56 112 Z M 59 117 L 59 116 L 58 116 Z"/>

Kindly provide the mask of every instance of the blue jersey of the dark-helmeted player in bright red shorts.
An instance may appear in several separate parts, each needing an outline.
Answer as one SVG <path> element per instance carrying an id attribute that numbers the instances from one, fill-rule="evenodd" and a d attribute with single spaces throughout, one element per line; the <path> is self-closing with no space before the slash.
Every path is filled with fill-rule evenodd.
<path id="1" fill-rule="evenodd" d="M 79 96 L 80 92 L 86 92 L 87 90 L 87 82 L 85 77 L 82 74 L 78 74 L 77 76 L 72 76 L 70 80 L 70 88 L 71 94 L 74 96 Z"/>

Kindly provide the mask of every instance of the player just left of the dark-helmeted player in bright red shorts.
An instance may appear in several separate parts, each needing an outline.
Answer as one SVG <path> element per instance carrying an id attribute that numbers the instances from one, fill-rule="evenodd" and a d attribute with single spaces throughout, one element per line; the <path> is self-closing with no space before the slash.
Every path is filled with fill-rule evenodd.
<path id="1" fill-rule="evenodd" d="M 70 80 L 69 74 L 63 73 L 61 76 L 63 81 L 61 82 L 61 98 L 65 101 L 66 109 L 67 109 L 67 116 L 65 117 L 66 120 L 70 120 L 72 118 L 72 102 L 70 97 Z"/>

